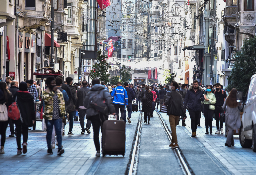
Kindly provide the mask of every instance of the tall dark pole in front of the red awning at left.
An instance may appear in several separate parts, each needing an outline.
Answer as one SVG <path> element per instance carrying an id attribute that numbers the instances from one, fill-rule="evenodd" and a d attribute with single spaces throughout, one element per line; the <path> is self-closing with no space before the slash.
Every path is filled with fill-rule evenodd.
<path id="1" fill-rule="evenodd" d="M 57 2 L 57 1 L 56 1 Z M 54 7 L 53 0 L 51 0 L 51 58 L 50 58 L 50 67 L 54 68 Z"/>

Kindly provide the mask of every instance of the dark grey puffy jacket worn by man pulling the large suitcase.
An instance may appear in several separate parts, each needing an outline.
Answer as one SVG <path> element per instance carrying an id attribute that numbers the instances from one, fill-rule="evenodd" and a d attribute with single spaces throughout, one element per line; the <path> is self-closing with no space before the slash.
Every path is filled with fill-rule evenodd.
<path id="1" fill-rule="evenodd" d="M 99 91 L 100 91 L 99 95 L 105 99 L 105 103 L 108 106 L 109 113 L 111 113 L 111 114 L 115 113 L 115 108 L 112 103 L 112 97 L 109 94 L 109 91 L 106 90 L 106 88 L 104 86 L 102 86 L 101 84 L 95 84 L 92 86 L 91 90 L 88 92 L 88 94 L 84 98 L 84 107 L 87 108 L 86 119 L 90 120 L 91 117 L 99 115 L 99 112 L 96 111 L 94 108 L 92 108 L 92 106 L 89 103 L 89 98 L 90 98 L 91 94 L 98 93 Z M 106 113 L 105 116 L 108 116 L 108 113 Z"/>

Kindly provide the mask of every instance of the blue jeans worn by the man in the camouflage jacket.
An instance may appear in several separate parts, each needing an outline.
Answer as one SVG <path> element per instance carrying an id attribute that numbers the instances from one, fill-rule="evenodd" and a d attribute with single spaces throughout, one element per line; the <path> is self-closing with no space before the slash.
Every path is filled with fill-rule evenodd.
<path id="1" fill-rule="evenodd" d="M 47 141 L 47 147 L 48 149 L 52 149 L 51 147 L 51 139 L 52 139 L 52 128 L 53 125 L 55 127 L 55 132 L 57 135 L 57 142 L 58 142 L 58 148 L 61 149 L 62 145 L 62 134 L 61 134 L 61 126 L 62 126 L 62 119 L 56 119 L 56 120 L 47 120 L 45 119 L 45 124 L 47 128 L 47 134 L 46 134 L 46 141 Z"/>

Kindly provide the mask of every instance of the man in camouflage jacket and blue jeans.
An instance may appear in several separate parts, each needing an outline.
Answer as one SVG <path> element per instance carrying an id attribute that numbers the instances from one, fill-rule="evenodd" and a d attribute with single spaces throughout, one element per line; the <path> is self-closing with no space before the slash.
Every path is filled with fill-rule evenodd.
<path id="1" fill-rule="evenodd" d="M 62 136 L 61 136 L 61 126 L 62 122 L 64 123 L 65 118 L 65 102 L 63 98 L 63 94 L 56 86 L 56 82 L 53 76 L 50 76 L 46 79 L 45 83 L 47 84 L 47 89 L 43 92 L 42 99 L 45 103 L 44 108 L 44 115 L 43 118 L 45 119 L 46 127 L 47 127 L 47 134 L 46 134 L 46 141 L 47 141 L 47 154 L 53 154 L 52 147 L 51 147 L 51 137 L 52 137 L 52 129 L 53 125 L 55 127 L 55 132 L 57 135 L 57 142 L 58 142 L 58 153 L 57 155 L 61 155 L 64 153 L 64 149 L 61 148 L 62 146 Z"/>

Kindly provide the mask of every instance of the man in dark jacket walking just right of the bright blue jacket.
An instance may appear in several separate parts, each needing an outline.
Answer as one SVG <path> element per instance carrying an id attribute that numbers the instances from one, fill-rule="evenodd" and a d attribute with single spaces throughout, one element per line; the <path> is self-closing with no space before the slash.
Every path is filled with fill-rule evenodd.
<path id="1" fill-rule="evenodd" d="M 131 123 L 131 116 L 132 116 L 132 100 L 135 98 L 135 93 L 132 89 L 132 85 L 130 85 L 131 88 L 129 88 L 129 85 L 127 82 L 124 82 L 124 88 L 127 92 L 127 97 L 128 97 L 128 116 L 127 116 L 127 120 L 128 123 Z M 126 110 L 124 110 L 124 122 L 126 123 Z"/>

